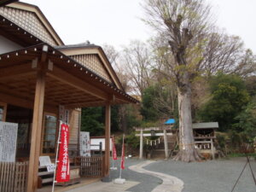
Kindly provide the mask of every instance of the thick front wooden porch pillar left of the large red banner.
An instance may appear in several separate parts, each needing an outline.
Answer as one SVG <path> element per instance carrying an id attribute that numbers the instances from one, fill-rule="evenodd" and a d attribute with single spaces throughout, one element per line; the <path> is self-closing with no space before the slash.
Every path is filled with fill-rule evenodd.
<path id="1" fill-rule="evenodd" d="M 32 119 L 32 138 L 29 156 L 26 192 L 34 192 L 38 186 L 38 160 L 44 113 L 45 74 L 38 72 Z"/>

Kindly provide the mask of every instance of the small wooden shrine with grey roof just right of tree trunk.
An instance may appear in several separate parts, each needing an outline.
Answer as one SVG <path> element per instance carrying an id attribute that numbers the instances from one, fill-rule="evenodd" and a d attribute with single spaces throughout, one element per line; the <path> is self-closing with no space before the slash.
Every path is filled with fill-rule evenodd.
<path id="1" fill-rule="evenodd" d="M 213 145 L 215 130 L 218 129 L 218 122 L 195 123 L 192 125 L 195 137 L 195 146 L 201 150 L 201 153 L 212 154 L 215 157 L 215 148 Z"/>

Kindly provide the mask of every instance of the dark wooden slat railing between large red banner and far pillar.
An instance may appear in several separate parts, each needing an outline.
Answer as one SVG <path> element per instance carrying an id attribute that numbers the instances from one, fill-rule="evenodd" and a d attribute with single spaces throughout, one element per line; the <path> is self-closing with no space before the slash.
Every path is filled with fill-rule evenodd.
<path id="1" fill-rule="evenodd" d="M 104 156 L 75 157 L 74 166 L 80 166 L 82 177 L 103 177 Z"/>

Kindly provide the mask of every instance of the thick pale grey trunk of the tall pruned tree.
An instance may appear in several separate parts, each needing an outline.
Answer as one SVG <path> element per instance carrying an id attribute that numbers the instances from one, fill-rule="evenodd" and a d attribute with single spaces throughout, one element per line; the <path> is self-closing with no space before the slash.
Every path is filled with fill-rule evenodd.
<path id="1" fill-rule="evenodd" d="M 177 86 L 179 113 L 179 152 L 174 160 L 191 162 L 201 160 L 201 155 L 195 148 L 191 117 L 191 84 L 188 74 L 183 75 L 183 82 Z"/>

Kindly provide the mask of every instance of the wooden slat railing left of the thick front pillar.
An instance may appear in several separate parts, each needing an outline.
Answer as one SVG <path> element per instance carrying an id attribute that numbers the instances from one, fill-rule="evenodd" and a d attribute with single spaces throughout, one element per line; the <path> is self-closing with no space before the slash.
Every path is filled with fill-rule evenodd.
<path id="1" fill-rule="evenodd" d="M 0 162 L 0 191 L 26 192 L 28 161 Z"/>

